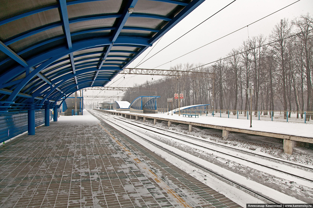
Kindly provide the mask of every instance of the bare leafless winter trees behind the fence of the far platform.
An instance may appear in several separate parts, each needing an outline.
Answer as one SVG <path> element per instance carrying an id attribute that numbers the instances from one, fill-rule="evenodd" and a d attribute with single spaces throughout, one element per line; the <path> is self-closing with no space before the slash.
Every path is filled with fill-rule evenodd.
<path id="1" fill-rule="evenodd" d="M 250 37 L 215 63 L 184 63 L 171 68 L 215 73 L 214 79 L 167 76 L 135 85 L 140 89 L 127 91 L 123 100 L 161 95 L 158 108 L 167 108 L 167 98 L 183 93 L 181 106 L 211 104 L 214 109 L 249 110 L 247 88 L 253 88 L 253 110 L 311 112 L 312 46 L 312 15 L 282 19 L 268 36 Z M 178 107 L 177 102 L 173 107 Z"/>

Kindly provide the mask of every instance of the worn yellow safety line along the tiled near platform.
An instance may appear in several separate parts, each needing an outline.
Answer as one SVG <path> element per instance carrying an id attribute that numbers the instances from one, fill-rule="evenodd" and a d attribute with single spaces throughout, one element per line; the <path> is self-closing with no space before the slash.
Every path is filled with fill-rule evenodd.
<path id="1" fill-rule="evenodd" d="M 165 190 L 168 194 L 172 195 L 174 197 L 174 200 L 177 201 L 182 205 L 182 207 L 188 207 L 192 208 L 192 206 L 189 206 L 188 203 L 180 197 L 176 191 L 174 191 L 171 187 L 169 187 L 165 181 L 162 180 L 159 176 L 156 175 L 155 172 L 153 172 L 145 163 L 141 162 L 138 157 L 136 157 L 134 154 L 131 153 L 131 151 L 126 148 L 117 138 L 115 138 L 106 128 L 104 128 L 100 123 L 100 127 L 104 129 L 104 131 L 125 151 L 128 152 L 127 155 L 133 159 L 135 164 L 137 164 L 139 167 L 142 168 L 151 178 L 158 183 L 160 187 L 162 187 L 163 190 Z"/>

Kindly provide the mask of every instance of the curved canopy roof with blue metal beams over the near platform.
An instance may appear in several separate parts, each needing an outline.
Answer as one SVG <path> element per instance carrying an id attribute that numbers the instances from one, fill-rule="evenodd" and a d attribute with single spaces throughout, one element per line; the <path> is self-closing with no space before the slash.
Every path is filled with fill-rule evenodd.
<path id="1" fill-rule="evenodd" d="M 203 1 L 2 0 L 0 112 L 105 86 Z"/>

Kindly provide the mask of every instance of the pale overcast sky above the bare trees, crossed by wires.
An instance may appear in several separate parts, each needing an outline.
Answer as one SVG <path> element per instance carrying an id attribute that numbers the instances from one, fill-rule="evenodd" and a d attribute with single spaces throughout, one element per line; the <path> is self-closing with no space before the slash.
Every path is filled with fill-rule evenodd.
<path id="1" fill-rule="evenodd" d="M 192 11 L 170 31 L 168 31 L 159 42 L 156 41 L 153 45 L 155 46 L 153 50 L 151 50 L 153 46 L 148 48 L 141 54 L 141 56 L 129 64 L 127 68 L 132 68 L 138 65 L 138 63 L 150 51 L 144 60 L 148 59 L 150 56 L 160 51 L 172 41 L 176 40 L 178 37 L 182 36 L 184 33 L 197 26 L 199 23 L 203 22 L 205 19 L 212 16 L 232 1 L 233 0 L 204 1 L 199 7 Z M 172 45 L 139 65 L 137 68 L 153 69 L 198 47 L 225 36 L 228 33 L 245 27 L 252 22 L 276 12 L 277 10 L 296 1 L 297 0 L 236 0 L 231 5 L 202 23 L 200 26 L 196 27 L 185 36 L 174 42 Z M 295 17 L 300 17 L 300 15 L 305 15 L 308 12 L 313 14 L 313 0 L 300 0 L 283 10 L 250 25 L 248 28 L 245 27 L 232 35 L 215 41 L 214 43 L 179 59 L 173 60 L 170 63 L 158 67 L 157 69 L 170 69 L 171 66 L 175 66 L 179 63 L 207 64 L 213 62 L 226 56 L 233 48 L 239 48 L 243 41 L 248 39 L 248 31 L 250 38 L 258 36 L 259 34 L 263 34 L 268 37 L 273 27 L 280 22 L 280 19 L 288 18 L 290 21 Z M 136 83 L 142 84 L 147 80 L 151 81 L 152 78 L 151 75 L 126 75 L 125 79 L 121 77 L 124 77 L 124 75 L 117 75 L 106 86 L 132 87 Z M 162 77 L 153 76 L 153 80 L 157 80 L 159 78 Z M 84 93 L 88 95 L 97 95 L 99 94 L 99 91 L 86 91 Z M 118 96 L 122 96 L 122 93 L 119 94 L 119 92 L 116 91 L 109 91 L 105 93 L 101 92 L 99 95 L 117 94 Z"/>

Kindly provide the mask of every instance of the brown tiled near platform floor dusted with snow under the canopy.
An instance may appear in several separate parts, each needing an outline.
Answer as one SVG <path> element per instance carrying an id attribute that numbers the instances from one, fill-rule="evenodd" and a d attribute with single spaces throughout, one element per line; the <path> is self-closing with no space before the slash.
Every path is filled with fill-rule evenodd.
<path id="1" fill-rule="evenodd" d="M 90 117 L 61 117 L 1 147 L 0 207 L 240 207 Z"/>

